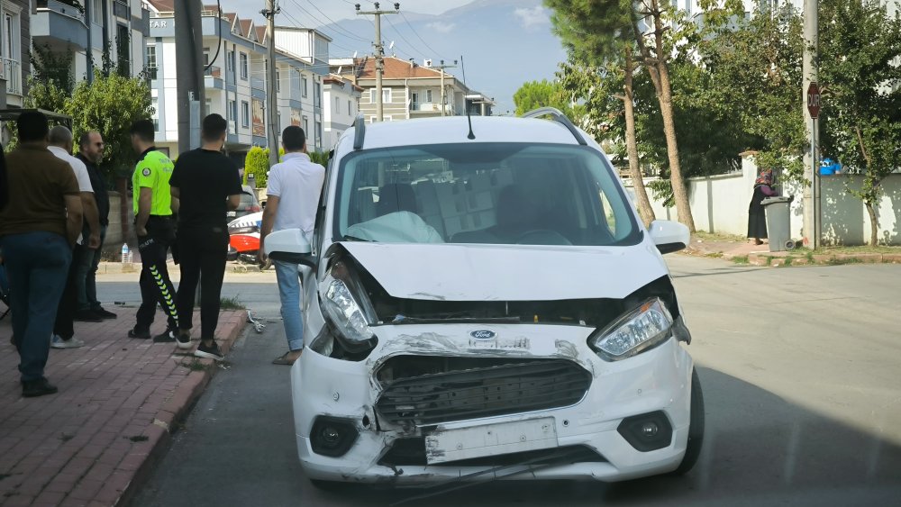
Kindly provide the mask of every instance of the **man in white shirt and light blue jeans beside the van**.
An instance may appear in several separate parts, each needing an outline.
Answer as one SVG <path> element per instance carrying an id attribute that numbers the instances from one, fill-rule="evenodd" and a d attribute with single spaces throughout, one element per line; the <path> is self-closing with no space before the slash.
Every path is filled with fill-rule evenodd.
<path id="1" fill-rule="evenodd" d="M 300 229 L 313 240 L 316 208 L 323 191 L 325 167 L 314 164 L 306 154 L 306 135 L 297 126 L 282 131 L 285 156 L 269 169 L 266 208 L 259 231 L 259 259 L 266 260 L 263 244 L 269 232 Z M 272 361 L 276 365 L 292 365 L 304 351 L 304 321 L 300 314 L 300 267 L 275 261 L 278 295 L 288 351 Z"/>

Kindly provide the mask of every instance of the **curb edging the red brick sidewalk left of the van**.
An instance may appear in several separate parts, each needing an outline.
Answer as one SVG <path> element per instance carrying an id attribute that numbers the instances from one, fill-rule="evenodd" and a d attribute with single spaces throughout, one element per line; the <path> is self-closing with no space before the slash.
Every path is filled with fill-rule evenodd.
<path id="1" fill-rule="evenodd" d="M 237 314 L 240 316 L 241 320 L 232 327 L 232 330 L 230 330 L 225 337 L 217 340 L 220 348 L 225 354 L 228 354 L 232 349 L 234 342 L 238 340 L 244 330 L 248 328 L 247 311 L 240 310 L 237 311 Z M 196 359 L 197 362 L 204 364 L 205 368 L 202 371 L 192 371 L 189 373 L 186 380 L 178 385 L 175 393 L 172 394 L 166 403 L 163 403 L 163 406 L 159 409 L 159 412 L 157 412 L 156 418 L 144 433 L 149 437 L 147 443 L 149 444 L 150 450 L 148 454 L 137 467 L 130 480 L 124 484 L 110 484 L 117 487 L 122 492 L 111 505 L 129 505 L 135 494 L 147 483 L 148 479 L 150 479 L 150 475 L 152 475 L 153 470 L 156 468 L 157 463 L 159 463 L 159 460 L 166 455 L 172 441 L 172 435 L 177 432 L 178 425 L 182 421 L 185 421 L 187 414 L 191 412 L 191 409 L 194 408 L 197 400 L 204 394 L 206 386 L 210 384 L 210 381 L 213 380 L 213 376 L 218 370 L 218 368 L 215 367 L 216 363 L 213 359 L 193 358 L 181 355 L 173 357 L 173 359 L 177 360 L 179 363 L 185 358 Z"/>

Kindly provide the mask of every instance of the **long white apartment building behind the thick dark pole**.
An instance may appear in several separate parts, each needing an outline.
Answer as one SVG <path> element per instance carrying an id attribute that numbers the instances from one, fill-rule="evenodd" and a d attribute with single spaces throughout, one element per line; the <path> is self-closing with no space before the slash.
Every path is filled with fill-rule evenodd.
<path id="1" fill-rule="evenodd" d="M 178 109 L 174 3 L 147 0 L 150 38 L 144 59 L 150 76 L 151 101 L 158 125 L 157 146 L 176 156 Z M 268 146 L 267 60 L 271 37 L 266 26 L 205 5 L 201 16 L 208 113 L 229 122 L 225 148 L 239 162 L 251 147 Z M 310 29 L 277 28 L 276 100 L 279 131 L 299 125 L 310 149 L 322 149 L 323 75 L 328 68 L 328 42 Z M 306 50 L 309 47 L 311 50 Z M 320 51 L 314 53 L 314 50 Z M 318 57 L 316 56 L 318 54 Z M 324 59 L 318 66 L 316 58 Z"/>

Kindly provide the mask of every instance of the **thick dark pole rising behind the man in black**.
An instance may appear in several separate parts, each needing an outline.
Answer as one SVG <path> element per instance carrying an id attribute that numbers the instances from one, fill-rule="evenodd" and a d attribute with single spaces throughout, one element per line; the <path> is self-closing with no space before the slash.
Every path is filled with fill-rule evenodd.
<path id="1" fill-rule="evenodd" d="M 201 0 L 175 3 L 178 152 L 200 148 L 200 119 L 206 114 Z M 194 110 L 192 114 L 192 108 Z"/>

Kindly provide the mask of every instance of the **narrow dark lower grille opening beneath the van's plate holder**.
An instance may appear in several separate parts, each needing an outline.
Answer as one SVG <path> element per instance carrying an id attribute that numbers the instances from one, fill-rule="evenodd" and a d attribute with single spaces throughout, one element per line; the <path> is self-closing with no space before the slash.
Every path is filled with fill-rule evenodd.
<path id="1" fill-rule="evenodd" d="M 378 464 L 382 466 L 509 466 L 523 463 L 523 461 L 537 461 L 541 463 L 543 457 L 553 458 L 555 461 L 560 461 L 561 464 L 606 462 L 605 457 L 598 454 L 593 448 L 587 446 L 564 446 L 497 454 L 495 456 L 470 457 L 469 459 L 428 465 L 425 458 L 425 439 L 416 437 L 396 439 L 394 445 L 385 453 L 385 456 L 378 460 Z"/>

